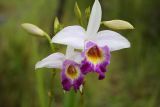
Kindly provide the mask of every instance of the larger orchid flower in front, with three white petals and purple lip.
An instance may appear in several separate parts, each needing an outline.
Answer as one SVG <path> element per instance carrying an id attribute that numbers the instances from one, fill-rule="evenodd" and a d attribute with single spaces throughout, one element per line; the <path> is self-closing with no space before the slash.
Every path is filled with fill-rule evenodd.
<path id="1" fill-rule="evenodd" d="M 83 74 L 94 71 L 99 74 L 99 79 L 105 77 L 106 66 L 110 63 L 110 52 L 130 47 L 130 42 L 117 32 L 111 30 L 98 32 L 101 17 L 101 5 L 95 0 L 86 31 L 78 25 L 68 26 L 52 38 L 53 43 L 83 49 L 84 60 L 81 65 Z"/>

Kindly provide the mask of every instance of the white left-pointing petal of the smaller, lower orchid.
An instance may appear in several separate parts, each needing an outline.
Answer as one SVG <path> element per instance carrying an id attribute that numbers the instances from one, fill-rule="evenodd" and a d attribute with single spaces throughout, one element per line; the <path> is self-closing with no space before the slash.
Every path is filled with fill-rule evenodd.
<path id="1" fill-rule="evenodd" d="M 36 63 L 37 68 L 61 68 L 62 63 L 65 60 L 65 56 L 62 53 L 54 53 Z"/>

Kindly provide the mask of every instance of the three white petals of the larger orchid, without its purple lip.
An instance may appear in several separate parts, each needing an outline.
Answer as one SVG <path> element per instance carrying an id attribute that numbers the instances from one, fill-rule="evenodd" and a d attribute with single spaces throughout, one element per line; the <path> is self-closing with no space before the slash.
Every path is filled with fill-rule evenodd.
<path id="1" fill-rule="evenodd" d="M 52 38 L 52 42 L 71 45 L 77 49 L 84 49 L 84 42 L 88 40 L 94 41 L 99 46 L 107 45 L 110 51 L 129 48 L 130 42 L 121 36 L 121 34 L 111 30 L 98 32 L 101 17 L 101 5 L 98 0 L 95 0 L 86 31 L 83 27 L 78 25 L 68 26 L 57 33 Z"/>

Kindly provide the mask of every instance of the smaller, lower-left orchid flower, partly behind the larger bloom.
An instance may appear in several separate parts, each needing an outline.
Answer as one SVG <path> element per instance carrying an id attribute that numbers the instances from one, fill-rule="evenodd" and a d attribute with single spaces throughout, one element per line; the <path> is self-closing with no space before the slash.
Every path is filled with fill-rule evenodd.
<path id="1" fill-rule="evenodd" d="M 74 90 L 80 90 L 83 85 L 84 75 L 80 69 L 81 55 L 74 52 L 74 48 L 68 46 L 66 55 L 62 53 L 53 53 L 43 60 L 37 62 L 35 68 L 59 68 L 61 69 L 61 83 L 65 91 L 69 91 L 71 87 Z"/>

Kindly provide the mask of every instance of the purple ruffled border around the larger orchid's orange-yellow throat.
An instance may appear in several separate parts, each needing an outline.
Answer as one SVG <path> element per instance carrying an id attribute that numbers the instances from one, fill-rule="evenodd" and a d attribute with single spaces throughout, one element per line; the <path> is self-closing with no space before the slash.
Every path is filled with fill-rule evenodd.
<path id="1" fill-rule="evenodd" d="M 92 47 L 96 47 L 97 49 L 101 50 L 103 53 L 103 60 L 94 64 L 93 62 L 89 61 L 87 59 L 87 52 Z M 99 80 L 102 80 L 105 78 L 105 72 L 107 71 L 107 65 L 110 64 L 110 51 L 108 46 L 104 47 L 98 47 L 96 43 L 89 41 L 86 43 L 85 50 L 82 53 L 82 56 L 84 57 L 84 60 L 81 64 L 81 71 L 83 74 L 87 74 L 89 72 L 97 72 L 99 74 Z"/>

